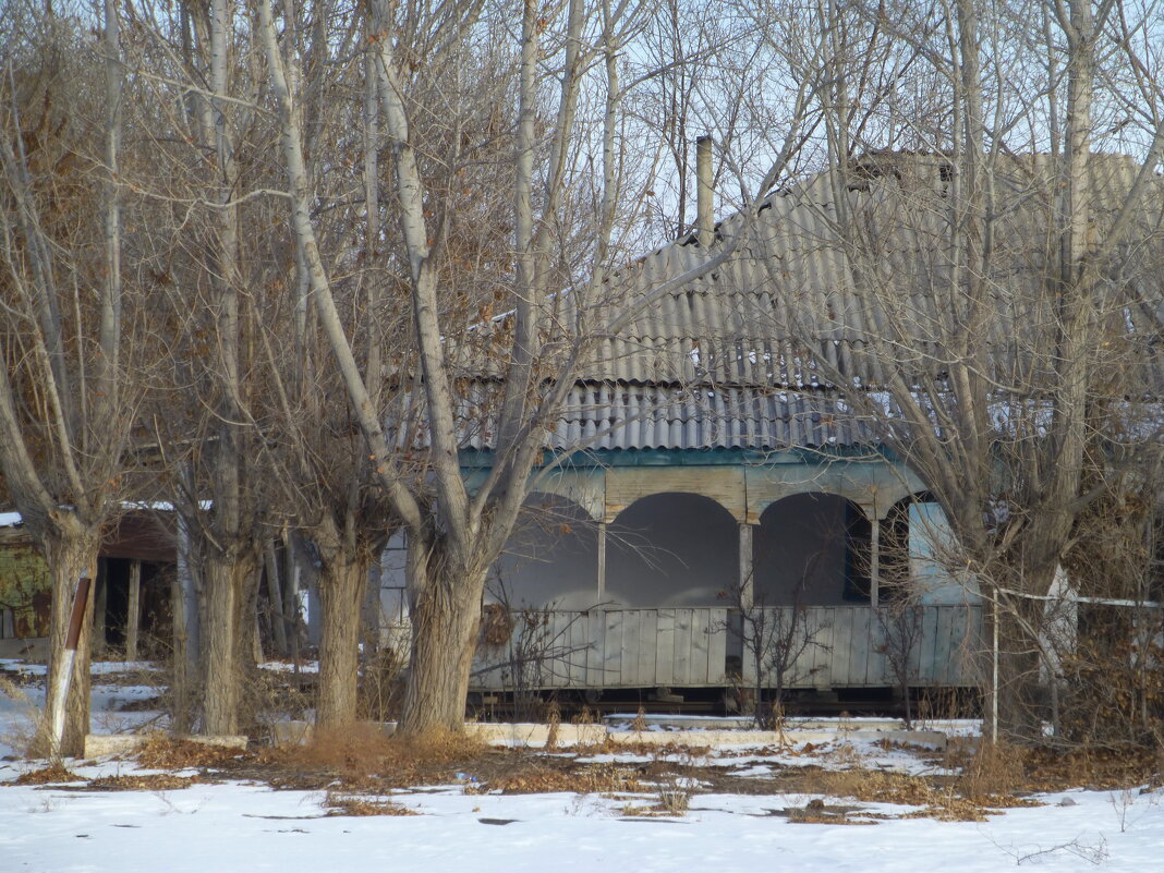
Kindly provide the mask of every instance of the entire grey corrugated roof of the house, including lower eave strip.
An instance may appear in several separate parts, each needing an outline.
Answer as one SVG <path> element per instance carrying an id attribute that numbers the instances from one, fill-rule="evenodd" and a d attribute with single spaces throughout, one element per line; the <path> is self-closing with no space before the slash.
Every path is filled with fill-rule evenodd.
<path id="1" fill-rule="evenodd" d="M 825 372 L 883 385 L 886 372 L 873 350 L 885 339 L 930 376 L 957 354 L 944 347 L 951 341 L 950 313 L 959 312 L 964 300 L 944 249 L 950 201 L 941 168 L 936 157 L 873 156 L 856 180 L 839 183 L 822 173 L 771 196 L 754 221 L 739 215 L 723 221 L 721 240 L 740 239 L 718 269 L 651 300 L 617 335 L 590 341 L 579 384 L 547 445 L 775 449 L 870 442 L 872 432 L 829 397 Z M 1102 155 L 1093 156 L 1091 168 L 1098 234 L 1140 168 L 1130 158 Z M 989 312 L 978 324 L 1000 370 L 1021 384 L 1024 368 L 1045 365 L 1023 354 L 1024 336 L 1046 329 L 1053 318 L 1045 272 L 1056 179 L 1045 157 L 1015 158 L 1002 169 L 994 180 L 994 253 L 985 277 Z M 1161 233 L 1162 192 L 1164 184 L 1155 177 L 1137 213 L 1141 227 L 1130 234 L 1133 246 L 1143 248 L 1150 234 Z M 864 258 L 846 250 L 838 197 L 857 222 Z M 602 324 L 634 307 L 714 256 L 716 244 L 709 251 L 680 240 L 613 272 L 605 312 L 588 313 L 585 321 Z M 1158 274 L 1148 281 L 1158 290 Z M 1122 293 L 1119 282 L 1110 285 Z M 1130 329 L 1158 338 L 1161 315 L 1154 310 L 1161 304 L 1152 304 L 1151 292 L 1147 298 L 1143 312 L 1126 318 Z M 561 322 L 573 324 L 570 301 L 562 305 Z M 504 348 L 489 336 L 504 329 L 498 321 L 475 333 L 475 348 L 462 346 L 457 371 L 502 376 L 503 361 L 473 361 Z M 966 329 L 977 328 L 967 324 Z M 810 342 L 799 345 L 794 336 Z M 1158 346 L 1144 357 L 1159 370 L 1150 376 L 1155 384 L 1164 383 Z M 466 402 L 471 407 L 466 441 L 476 448 L 490 443 L 487 426 L 469 425 L 491 406 L 481 399 Z"/>

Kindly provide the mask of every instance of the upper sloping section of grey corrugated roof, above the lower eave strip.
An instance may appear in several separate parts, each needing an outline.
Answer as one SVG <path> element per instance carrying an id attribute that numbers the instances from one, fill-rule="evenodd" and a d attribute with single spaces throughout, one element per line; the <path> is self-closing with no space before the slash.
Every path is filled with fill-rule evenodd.
<path id="1" fill-rule="evenodd" d="M 896 159 L 863 184 L 822 173 L 771 196 L 753 221 L 737 215 L 722 222 L 709 250 L 682 240 L 615 272 L 608 314 L 652 298 L 663 283 L 734 244 L 714 271 L 651 299 L 617 335 L 596 341 L 582 377 L 879 385 L 887 381 L 887 349 L 934 374 L 957 360 L 965 335 L 984 340 L 1009 372 L 1035 372 L 1039 362 L 1029 350 L 1048 347 L 1045 332 L 1057 317 L 1049 159 L 1017 158 L 995 175 L 992 255 L 977 277 L 977 308 L 966 291 L 970 271 L 952 267 L 965 260 L 949 243 L 952 183 L 937 158 Z M 1138 172 L 1130 158 L 1092 156 L 1093 237 L 1113 223 Z M 1129 328 L 1144 335 L 1158 335 L 1164 315 L 1162 192 L 1161 178 L 1149 179 L 1122 246 L 1127 258 L 1115 258 L 1123 276 L 1103 277 L 1095 292 L 1098 312 L 1127 311 Z"/>

